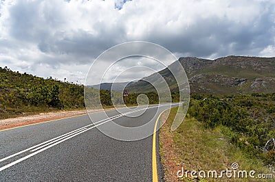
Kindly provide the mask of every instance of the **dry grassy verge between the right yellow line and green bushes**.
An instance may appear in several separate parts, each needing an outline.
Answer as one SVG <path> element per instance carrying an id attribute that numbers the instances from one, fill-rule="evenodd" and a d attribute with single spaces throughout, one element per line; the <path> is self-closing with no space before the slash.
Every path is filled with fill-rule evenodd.
<path id="1" fill-rule="evenodd" d="M 221 127 L 205 129 L 201 122 L 195 118 L 187 117 L 178 129 L 170 131 L 176 112 L 177 108 L 171 109 L 168 119 L 159 130 L 159 153 L 164 166 L 164 181 L 272 181 L 272 179 L 252 179 L 250 177 L 248 179 L 227 178 L 225 173 L 220 179 L 192 178 L 190 172 L 187 178 L 178 178 L 177 171 L 182 170 L 182 167 L 185 171 L 204 170 L 206 176 L 209 170 L 216 170 L 219 176 L 221 170 L 226 170 L 226 168 L 232 170 L 232 163 L 239 164 L 239 170 L 248 172 L 255 170 L 255 177 L 259 173 L 270 174 L 271 171 L 263 165 L 261 160 L 247 155 L 241 149 L 230 144 L 221 133 L 223 130 Z M 273 176 L 273 178 L 275 177 Z"/>

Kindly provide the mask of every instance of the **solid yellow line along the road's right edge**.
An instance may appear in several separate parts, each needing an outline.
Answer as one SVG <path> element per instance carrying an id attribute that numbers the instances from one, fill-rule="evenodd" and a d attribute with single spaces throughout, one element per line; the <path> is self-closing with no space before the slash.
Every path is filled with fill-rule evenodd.
<path id="1" fill-rule="evenodd" d="M 170 109 L 170 108 L 168 108 Z M 158 182 L 158 177 L 157 177 L 157 152 L 156 152 L 156 149 L 155 149 L 155 135 L 157 133 L 157 123 L 159 121 L 159 118 L 160 116 L 162 116 L 162 114 L 168 110 L 168 109 L 165 109 L 163 112 L 161 112 L 159 114 L 159 116 L 157 117 L 157 120 L 155 121 L 155 127 L 154 127 L 154 133 L 153 133 L 153 152 L 152 152 L 152 168 L 153 168 L 153 182 Z"/>

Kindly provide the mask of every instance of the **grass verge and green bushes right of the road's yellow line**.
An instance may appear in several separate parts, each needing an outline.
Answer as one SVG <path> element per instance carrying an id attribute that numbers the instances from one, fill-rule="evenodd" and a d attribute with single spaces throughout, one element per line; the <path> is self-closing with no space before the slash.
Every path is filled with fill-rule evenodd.
<path id="1" fill-rule="evenodd" d="M 177 170 L 184 166 L 186 170 L 219 171 L 230 169 L 234 162 L 241 170 L 272 173 L 275 166 L 274 105 L 275 93 L 192 94 L 188 114 L 180 127 L 170 131 L 176 112 L 171 109 L 168 120 L 159 131 L 160 154 L 166 172 L 164 179 L 193 181 L 195 179 L 190 177 L 177 178 Z"/>

